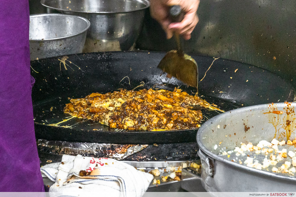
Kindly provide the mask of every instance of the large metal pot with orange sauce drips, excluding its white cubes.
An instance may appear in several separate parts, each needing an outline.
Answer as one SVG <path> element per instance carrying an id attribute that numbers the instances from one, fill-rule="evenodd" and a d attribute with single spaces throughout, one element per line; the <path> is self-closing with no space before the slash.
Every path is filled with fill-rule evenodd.
<path id="1" fill-rule="evenodd" d="M 254 105 L 219 114 L 204 123 L 197 132 L 203 187 L 209 192 L 288 192 L 295 188 L 295 175 L 274 173 L 273 165 L 258 170 L 238 162 L 239 159 L 244 162 L 253 154 L 251 157 L 262 163 L 265 154 L 246 151 L 245 156 L 221 155 L 223 151 L 240 146 L 241 142 L 256 145 L 261 140 L 270 142 L 274 138 L 292 141 L 296 136 L 295 108 L 295 102 Z M 295 149 L 287 145 L 279 150 L 283 148 L 287 152 Z M 280 167 L 284 161 L 279 161 L 275 167 Z"/>

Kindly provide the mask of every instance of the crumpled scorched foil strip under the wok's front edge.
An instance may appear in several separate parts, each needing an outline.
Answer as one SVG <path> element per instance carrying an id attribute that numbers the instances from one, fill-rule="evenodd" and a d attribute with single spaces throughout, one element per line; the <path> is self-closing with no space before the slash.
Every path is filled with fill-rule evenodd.
<path id="1" fill-rule="evenodd" d="M 70 154 L 89 157 L 108 157 L 122 160 L 132 154 L 135 154 L 148 144 L 99 144 L 87 142 L 67 142 L 67 141 L 48 141 L 45 139 L 37 140 L 38 151 L 44 151 L 53 154 Z"/>

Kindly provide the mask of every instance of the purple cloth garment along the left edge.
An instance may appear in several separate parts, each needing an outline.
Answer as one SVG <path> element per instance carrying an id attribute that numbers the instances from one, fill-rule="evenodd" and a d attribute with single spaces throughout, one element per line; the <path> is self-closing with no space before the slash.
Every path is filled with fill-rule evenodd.
<path id="1" fill-rule="evenodd" d="M 0 192 L 44 191 L 31 98 L 29 1 L 0 11 Z"/>

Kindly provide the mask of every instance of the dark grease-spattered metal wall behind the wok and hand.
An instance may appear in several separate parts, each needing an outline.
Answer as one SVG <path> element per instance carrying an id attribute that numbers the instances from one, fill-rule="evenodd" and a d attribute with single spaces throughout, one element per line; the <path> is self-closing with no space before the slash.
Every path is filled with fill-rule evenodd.
<path id="1" fill-rule="evenodd" d="M 183 43 L 186 53 L 253 64 L 296 85 L 295 0 L 201 0 L 197 13 L 192 38 Z M 169 51 L 176 46 L 147 11 L 136 48 Z"/>

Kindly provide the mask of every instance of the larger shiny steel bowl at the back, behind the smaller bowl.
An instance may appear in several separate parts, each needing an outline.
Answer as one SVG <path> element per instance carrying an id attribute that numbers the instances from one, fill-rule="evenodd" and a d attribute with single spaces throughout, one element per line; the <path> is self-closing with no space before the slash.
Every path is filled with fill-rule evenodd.
<path id="1" fill-rule="evenodd" d="M 148 0 L 41 0 L 49 12 L 85 17 L 91 22 L 83 52 L 127 51 L 139 36 Z"/>

